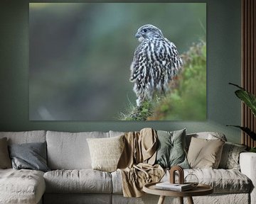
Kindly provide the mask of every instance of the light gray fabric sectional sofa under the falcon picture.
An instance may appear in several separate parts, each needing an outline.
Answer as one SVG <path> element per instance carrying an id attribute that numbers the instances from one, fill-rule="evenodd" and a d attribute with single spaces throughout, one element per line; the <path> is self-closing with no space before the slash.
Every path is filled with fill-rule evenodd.
<path id="1" fill-rule="evenodd" d="M 114 137 L 122 132 L 0 132 L 8 144 L 46 142 L 50 171 L 0 169 L 0 203 L 157 203 L 159 197 L 146 194 L 141 198 L 122 196 L 119 171 L 93 170 L 87 138 Z M 214 135 L 214 132 L 211 132 Z M 218 135 L 218 134 L 217 134 Z M 187 135 L 208 138 L 208 132 Z M 221 136 L 225 137 L 225 136 Z M 209 139 L 209 138 L 208 138 Z M 225 155 L 223 155 L 224 157 Z M 185 169 L 196 174 L 199 182 L 213 186 L 214 193 L 195 197 L 194 203 L 256 203 L 256 154 L 240 153 L 238 169 Z M 162 181 L 169 180 L 166 171 Z M 186 201 L 186 199 L 184 199 Z M 177 202 L 176 198 L 166 198 Z M 185 202 L 186 203 L 186 202 Z"/>

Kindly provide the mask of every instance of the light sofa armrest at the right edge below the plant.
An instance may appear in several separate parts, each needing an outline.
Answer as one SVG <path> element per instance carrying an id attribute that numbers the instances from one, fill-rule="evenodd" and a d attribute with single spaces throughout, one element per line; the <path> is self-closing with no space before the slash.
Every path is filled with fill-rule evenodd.
<path id="1" fill-rule="evenodd" d="M 242 152 L 240 153 L 240 169 L 252 181 L 252 192 L 250 193 L 251 202 L 256 203 L 256 153 Z"/>

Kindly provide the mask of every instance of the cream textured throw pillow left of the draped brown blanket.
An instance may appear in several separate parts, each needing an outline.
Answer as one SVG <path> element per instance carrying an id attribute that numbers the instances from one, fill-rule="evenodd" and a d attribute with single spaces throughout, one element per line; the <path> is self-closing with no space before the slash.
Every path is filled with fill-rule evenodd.
<path id="1" fill-rule="evenodd" d="M 124 150 L 124 135 L 110 138 L 88 138 L 92 169 L 112 172 Z"/>

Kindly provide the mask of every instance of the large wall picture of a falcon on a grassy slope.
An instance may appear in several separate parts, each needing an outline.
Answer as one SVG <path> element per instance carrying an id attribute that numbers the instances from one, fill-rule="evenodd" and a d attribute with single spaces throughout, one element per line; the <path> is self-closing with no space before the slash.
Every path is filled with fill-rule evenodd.
<path id="1" fill-rule="evenodd" d="M 30 3 L 29 120 L 206 120 L 206 3 Z"/>

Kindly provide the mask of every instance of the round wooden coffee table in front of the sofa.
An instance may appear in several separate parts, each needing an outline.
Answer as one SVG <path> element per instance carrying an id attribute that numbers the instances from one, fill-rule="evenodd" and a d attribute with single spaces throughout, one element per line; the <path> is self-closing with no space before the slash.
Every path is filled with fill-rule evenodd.
<path id="1" fill-rule="evenodd" d="M 181 204 L 183 204 L 183 197 L 187 197 L 188 203 L 193 204 L 192 196 L 206 196 L 213 193 L 213 188 L 205 184 L 198 184 L 198 186 L 189 191 L 180 192 L 158 189 L 156 188 L 156 183 L 147 183 L 143 186 L 143 191 L 160 196 L 158 204 L 163 204 L 166 196 L 178 197 Z"/>

